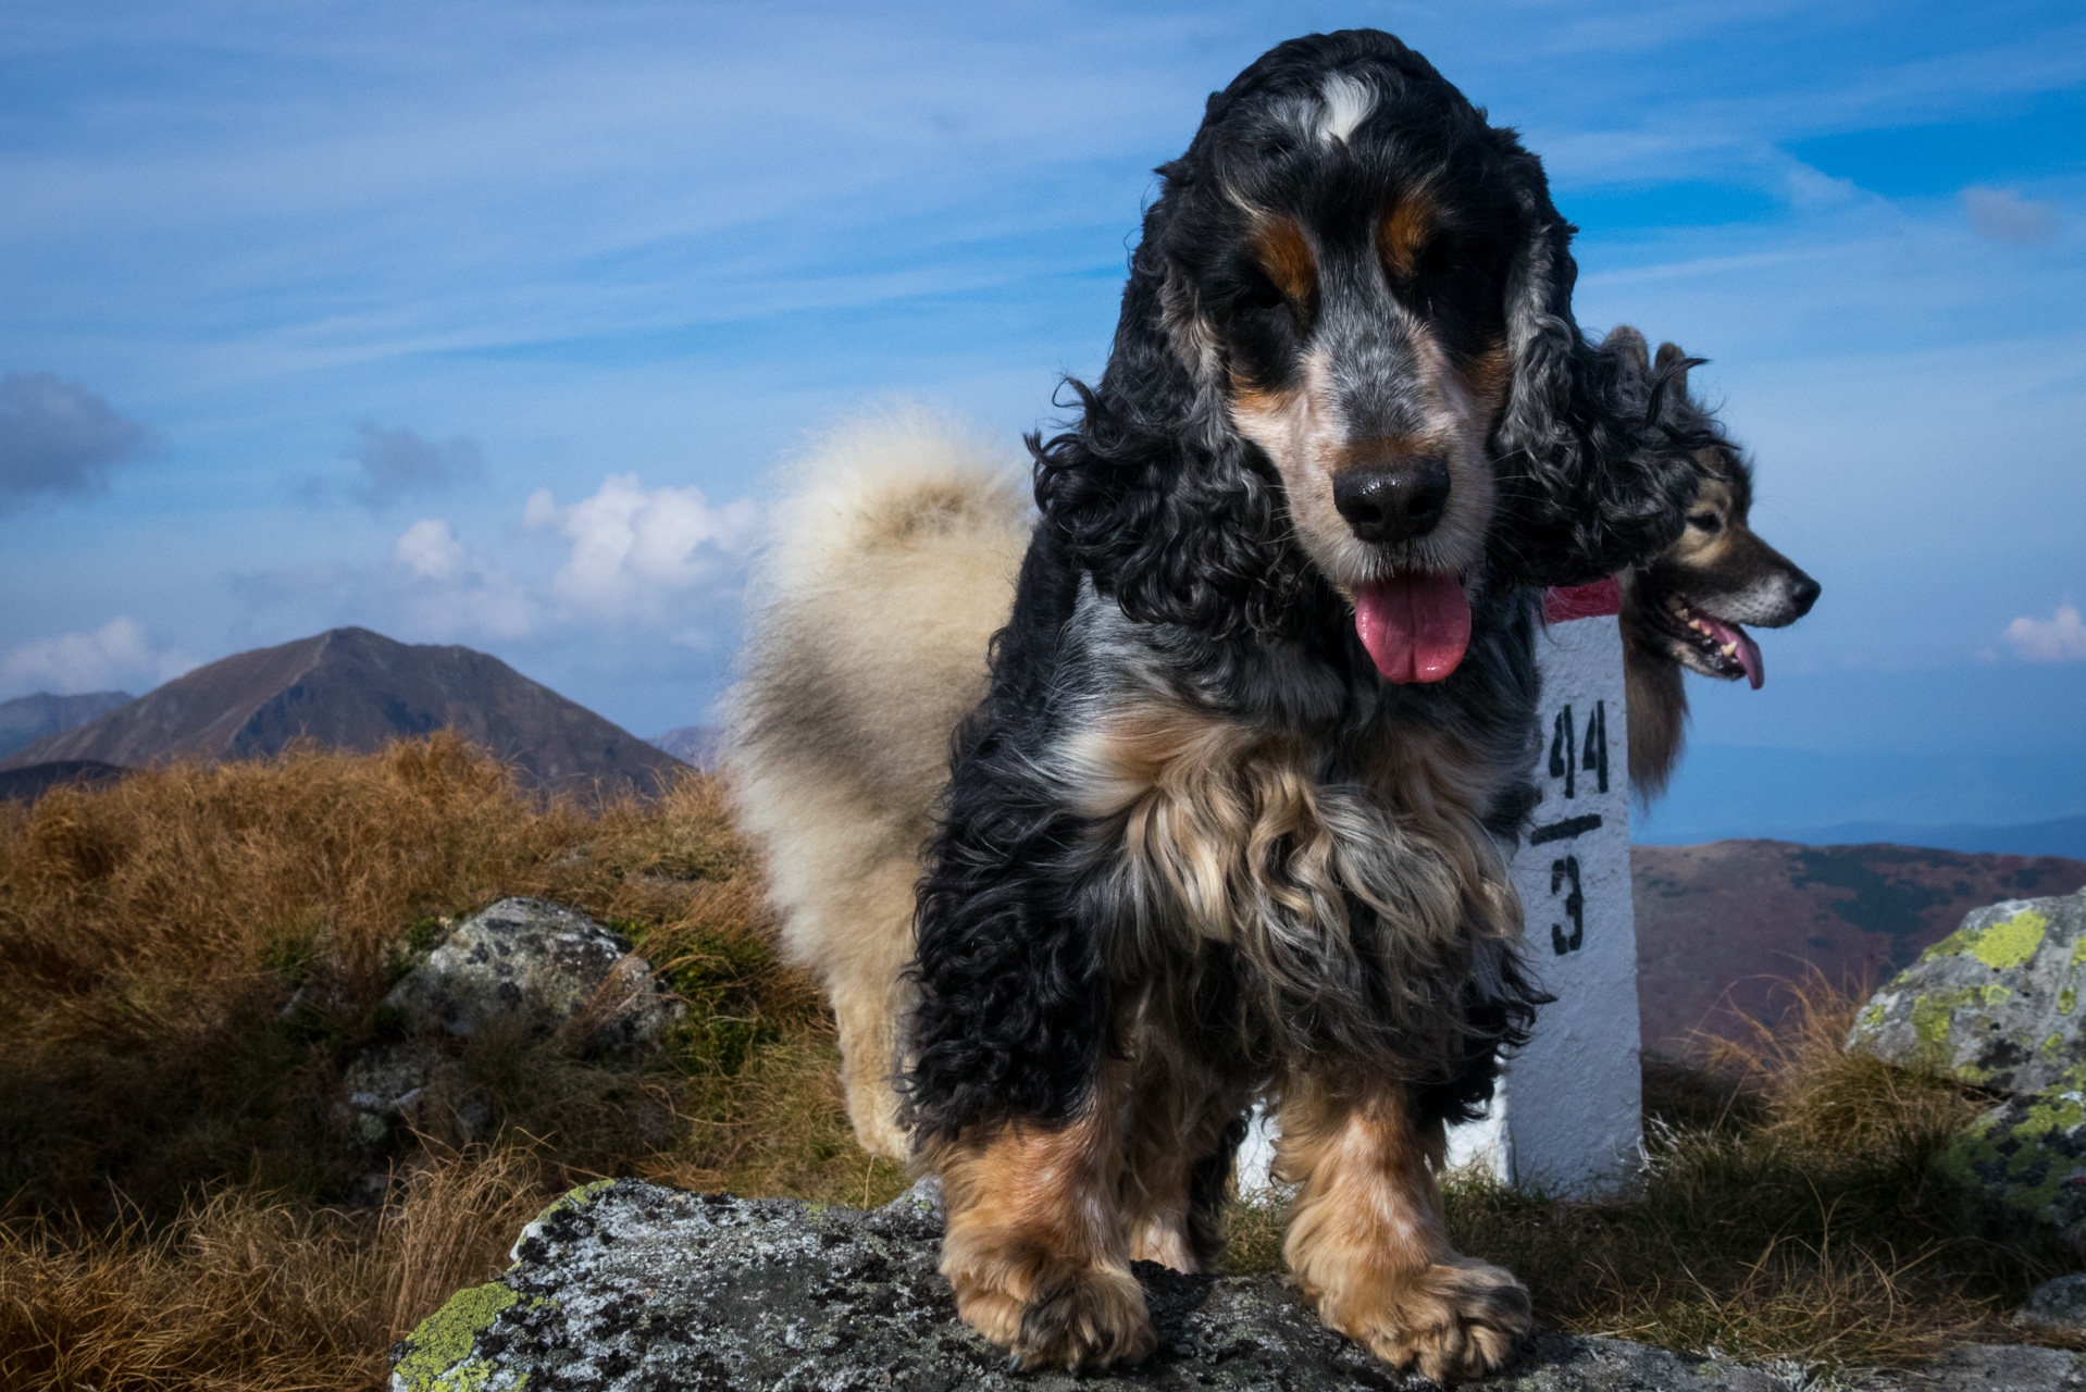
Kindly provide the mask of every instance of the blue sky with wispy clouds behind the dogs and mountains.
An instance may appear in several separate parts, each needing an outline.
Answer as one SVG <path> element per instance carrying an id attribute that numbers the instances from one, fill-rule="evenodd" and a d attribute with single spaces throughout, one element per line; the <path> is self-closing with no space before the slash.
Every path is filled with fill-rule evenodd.
<path id="1" fill-rule="evenodd" d="M 15 0 L 0 697 L 367 624 L 701 720 L 776 461 L 893 394 L 1016 451 L 1204 96 L 1364 23 L 1546 159 L 1585 326 L 1713 359 L 1825 584 L 1654 826 L 2086 812 L 2063 4 Z"/>

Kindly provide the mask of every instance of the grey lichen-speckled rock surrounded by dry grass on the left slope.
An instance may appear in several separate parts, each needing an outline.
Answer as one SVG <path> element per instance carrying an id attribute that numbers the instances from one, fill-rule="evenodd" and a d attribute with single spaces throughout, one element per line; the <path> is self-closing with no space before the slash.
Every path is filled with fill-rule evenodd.
<path id="1" fill-rule="evenodd" d="M 530 1033 L 580 1029 L 597 1050 L 657 1048 L 682 1004 L 630 941 L 544 899 L 471 914 L 384 998 L 409 1029 L 469 1035 L 494 1021 Z"/>

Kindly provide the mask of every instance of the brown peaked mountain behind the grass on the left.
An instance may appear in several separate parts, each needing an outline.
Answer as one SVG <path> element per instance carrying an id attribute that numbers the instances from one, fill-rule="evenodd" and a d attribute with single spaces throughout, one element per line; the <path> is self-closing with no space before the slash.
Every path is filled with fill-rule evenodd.
<path id="1" fill-rule="evenodd" d="M 65 760 L 215 764 L 277 753 L 294 739 L 373 751 L 401 735 L 442 728 L 513 762 L 540 787 L 649 791 L 686 768 L 488 653 L 330 628 L 196 668 L 15 751 L 0 770 Z"/>

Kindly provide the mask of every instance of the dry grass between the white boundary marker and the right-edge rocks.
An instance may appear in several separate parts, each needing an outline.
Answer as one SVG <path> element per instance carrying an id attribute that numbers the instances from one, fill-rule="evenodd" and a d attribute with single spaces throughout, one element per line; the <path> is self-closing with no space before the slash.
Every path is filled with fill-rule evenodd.
<path id="1" fill-rule="evenodd" d="M 1854 1004 L 1809 983 L 1777 1029 L 1711 1041 L 1713 1069 L 1648 1060 L 1642 1196 L 1567 1202 L 1456 1177 L 1452 1240 L 1577 1334 L 1827 1365 L 2021 1338 L 2005 1315 L 2073 1261 L 1990 1231 L 1930 1173 L 1988 1102 L 1844 1054 Z M 1235 1217 L 1233 1269 L 1279 1269 L 1281 1217 Z"/>

